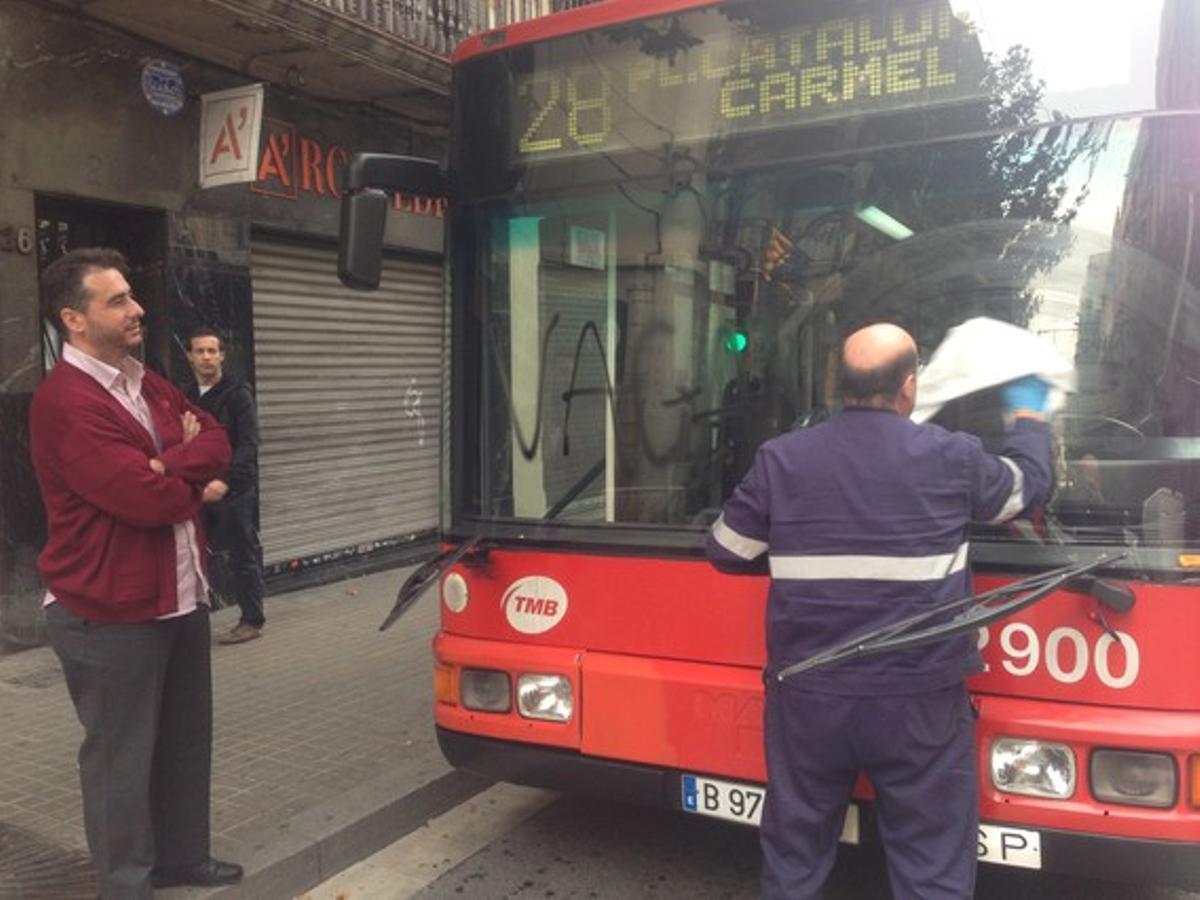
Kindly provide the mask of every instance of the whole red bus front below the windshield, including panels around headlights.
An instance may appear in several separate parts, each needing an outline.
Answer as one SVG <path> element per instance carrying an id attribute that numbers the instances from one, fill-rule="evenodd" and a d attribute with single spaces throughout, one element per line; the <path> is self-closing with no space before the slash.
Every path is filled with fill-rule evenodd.
<path id="1" fill-rule="evenodd" d="M 766 578 L 724 576 L 703 560 L 518 550 L 493 550 L 486 564 L 454 571 L 467 580 L 470 599 L 460 613 L 443 607 L 438 660 L 512 677 L 564 674 L 576 708 L 570 722 L 553 724 L 439 703 L 439 726 L 592 757 L 766 780 Z M 565 611 L 554 610 L 557 624 L 540 634 L 518 631 L 509 617 L 510 588 L 532 577 L 553 580 L 566 598 Z M 978 587 L 1000 581 L 979 578 Z M 1098 622 L 1097 601 L 1073 593 L 1058 593 L 989 629 L 988 671 L 971 685 L 980 712 L 985 821 L 1200 841 L 1200 811 L 1189 806 L 1187 784 L 1189 758 L 1200 752 L 1195 589 L 1139 583 L 1133 589 L 1134 610 L 1105 617 L 1120 643 Z M 1136 650 L 1127 652 L 1127 642 Z M 997 737 L 1069 744 L 1079 768 L 1074 798 L 1046 800 L 992 788 L 989 752 Z M 1096 748 L 1174 756 L 1181 774 L 1175 806 L 1092 799 L 1087 760 Z"/>

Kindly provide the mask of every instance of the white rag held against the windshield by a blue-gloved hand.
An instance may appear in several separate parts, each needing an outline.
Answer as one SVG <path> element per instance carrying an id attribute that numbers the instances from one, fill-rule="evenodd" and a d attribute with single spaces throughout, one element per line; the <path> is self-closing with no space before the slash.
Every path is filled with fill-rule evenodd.
<path id="1" fill-rule="evenodd" d="M 1075 367 L 1046 338 L 984 316 L 967 319 L 920 370 L 912 420 L 928 421 L 952 400 L 1031 374 L 1050 385 L 1046 415 L 1075 390 Z"/>

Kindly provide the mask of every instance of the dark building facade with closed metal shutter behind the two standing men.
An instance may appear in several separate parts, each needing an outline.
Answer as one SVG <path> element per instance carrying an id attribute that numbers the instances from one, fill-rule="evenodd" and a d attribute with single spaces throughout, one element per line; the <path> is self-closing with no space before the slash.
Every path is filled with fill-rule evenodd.
<path id="1" fill-rule="evenodd" d="M 44 518 L 28 412 L 58 347 L 38 316 L 38 271 L 73 247 L 114 246 L 130 259 L 148 365 L 188 378 L 186 336 L 208 325 L 226 337 L 227 368 L 254 385 L 269 574 L 395 551 L 437 527 L 445 199 L 396 198 L 378 293 L 338 283 L 336 236 L 350 154 L 444 156 L 444 55 L 300 0 L 293 24 L 304 28 L 292 32 L 253 2 L 235 12 L 101 2 L 88 16 L 76 6 L 0 6 L 0 637 L 10 647 L 41 640 Z M 221 18 L 191 30 L 176 19 L 181 37 L 166 44 L 152 17 L 170 18 L 172 6 Z M 354 59 L 360 76 L 338 82 Z M 390 59 L 395 71 L 362 59 Z M 252 83 L 265 84 L 257 150 L 203 146 L 202 95 Z M 252 154 L 256 180 L 202 188 L 202 156 L 215 152 Z"/>

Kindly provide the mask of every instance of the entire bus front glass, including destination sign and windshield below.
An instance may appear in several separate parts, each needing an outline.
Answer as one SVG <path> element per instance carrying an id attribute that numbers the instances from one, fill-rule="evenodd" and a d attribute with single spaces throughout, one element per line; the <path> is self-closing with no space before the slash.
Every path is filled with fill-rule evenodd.
<path id="1" fill-rule="evenodd" d="M 838 412 L 846 334 L 892 320 L 928 356 L 988 316 L 1079 386 L 1050 509 L 977 554 L 1183 571 L 1200 124 L 1048 113 L 1028 49 L 988 52 L 958 8 L 985 4 L 852 6 L 734 4 L 461 67 L 456 514 L 696 546 L 762 442 Z M 1003 439 L 995 390 L 935 421 Z"/>

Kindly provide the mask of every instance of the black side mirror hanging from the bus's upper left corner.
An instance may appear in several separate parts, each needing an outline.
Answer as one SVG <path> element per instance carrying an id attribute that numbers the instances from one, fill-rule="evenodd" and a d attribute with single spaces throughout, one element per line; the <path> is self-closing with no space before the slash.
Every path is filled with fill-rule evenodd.
<path id="1" fill-rule="evenodd" d="M 337 245 L 337 277 L 348 287 L 379 287 L 389 192 L 444 196 L 446 174 L 436 161 L 416 156 L 355 154 L 350 158 Z"/>

